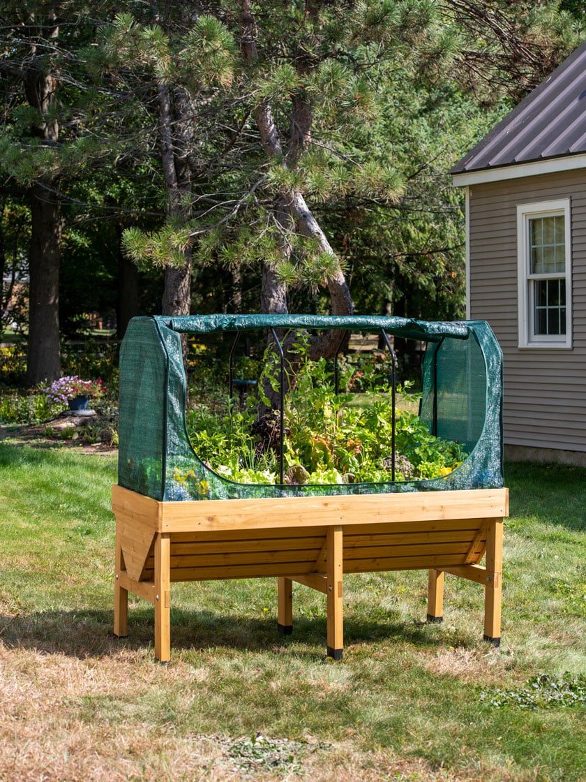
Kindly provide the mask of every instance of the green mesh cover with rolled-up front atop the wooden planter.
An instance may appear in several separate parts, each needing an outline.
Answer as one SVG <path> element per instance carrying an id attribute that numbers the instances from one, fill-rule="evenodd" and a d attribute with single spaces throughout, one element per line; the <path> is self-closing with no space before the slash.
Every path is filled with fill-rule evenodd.
<path id="1" fill-rule="evenodd" d="M 384 483 L 273 486 L 220 477 L 195 454 L 185 425 L 181 334 L 258 328 L 380 333 L 427 343 L 420 416 L 432 434 L 470 454 L 443 478 Z M 195 400 L 192 400 L 195 401 Z M 155 500 L 303 497 L 502 486 L 502 353 L 484 321 L 400 317 L 200 315 L 135 317 L 120 352 L 120 486 Z"/>

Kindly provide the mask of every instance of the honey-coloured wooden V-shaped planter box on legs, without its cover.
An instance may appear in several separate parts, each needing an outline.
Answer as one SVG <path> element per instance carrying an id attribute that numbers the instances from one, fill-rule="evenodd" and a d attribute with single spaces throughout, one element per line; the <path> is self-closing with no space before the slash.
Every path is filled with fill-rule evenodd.
<path id="1" fill-rule="evenodd" d="M 114 486 L 113 511 L 114 633 L 127 635 L 129 591 L 152 602 L 161 662 L 176 581 L 277 577 L 280 633 L 292 632 L 293 581 L 323 592 L 327 654 L 339 659 L 345 573 L 428 570 L 427 619 L 438 622 L 447 572 L 484 586 L 484 639 L 500 642 L 506 489 L 159 502 Z"/>

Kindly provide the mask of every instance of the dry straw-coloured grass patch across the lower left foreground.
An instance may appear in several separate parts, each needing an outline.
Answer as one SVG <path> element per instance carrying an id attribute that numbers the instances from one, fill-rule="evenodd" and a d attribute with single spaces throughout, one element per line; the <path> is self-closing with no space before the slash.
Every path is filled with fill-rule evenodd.
<path id="1" fill-rule="evenodd" d="M 205 666 L 161 666 L 128 648 L 80 659 L 0 643 L 1 782 L 470 782 L 423 759 L 359 753 L 349 742 L 320 744 L 311 737 L 268 740 L 271 751 L 281 748 L 293 758 L 290 772 L 286 762 L 273 772 L 270 762 L 257 767 L 234 752 L 241 740 L 181 736 L 173 721 L 157 724 L 148 713 L 141 719 L 138 705 L 156 688 L 188 693 L 209 676 Z M 344 672 L 326 669 L 316 686 L 345 687 Z M 92 702 L 101 699 L 127 718 L 110 721 L 108 708 L 92 716 Z"/>

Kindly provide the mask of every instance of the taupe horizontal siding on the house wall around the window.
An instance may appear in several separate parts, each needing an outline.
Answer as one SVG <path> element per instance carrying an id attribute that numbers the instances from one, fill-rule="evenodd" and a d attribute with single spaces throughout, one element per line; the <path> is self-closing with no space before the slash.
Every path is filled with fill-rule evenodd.
<path id="1" fill-rule="evenodd" d="M 570 198 L 573 347 L 518 347 L 516 207 Z M 586 170 L 470 187 L 470 317 L 504 355 L 506 445 L 586 452 Z"/>

